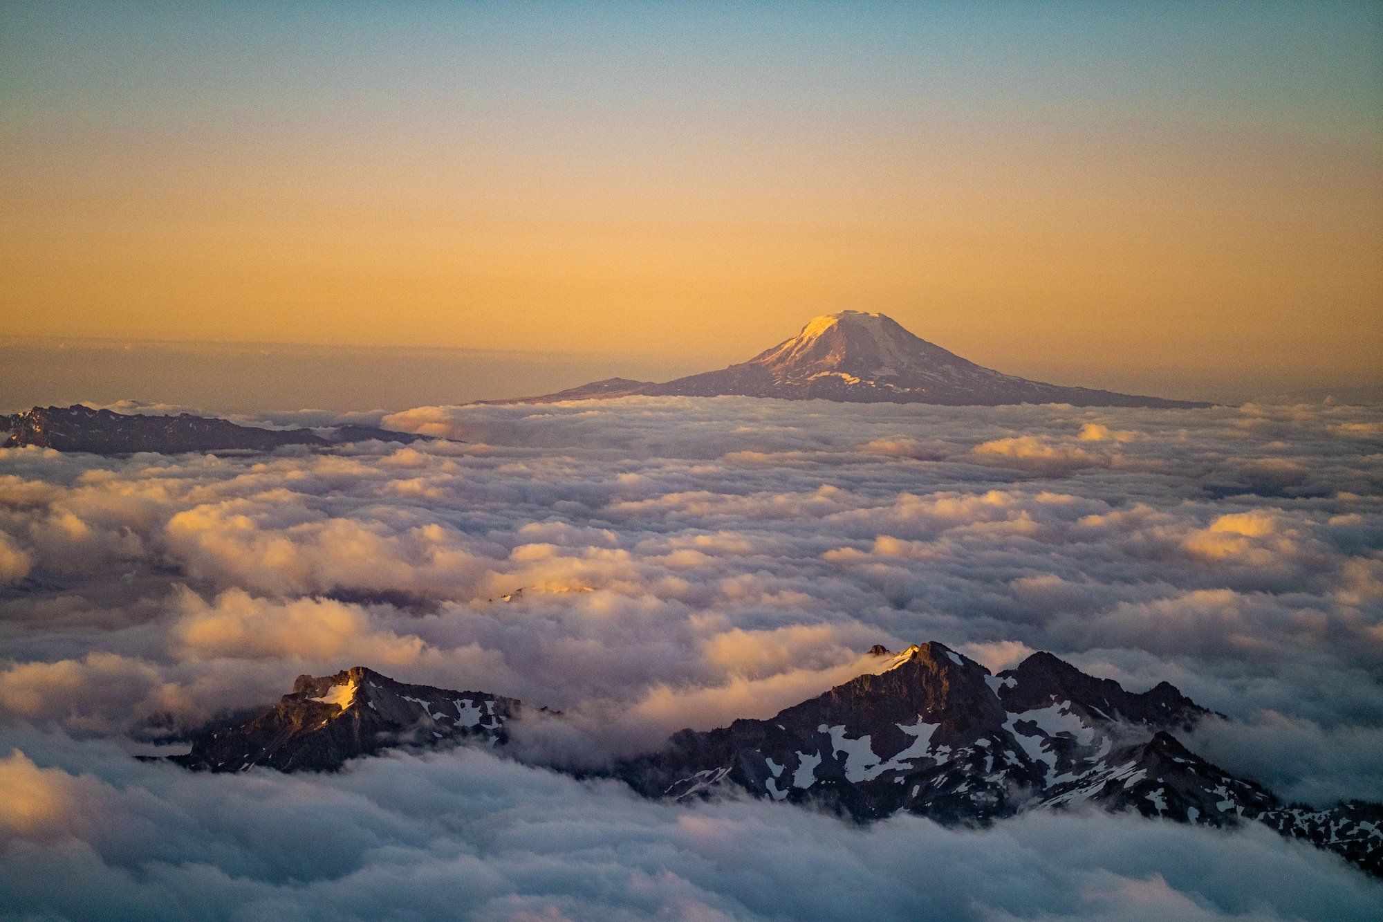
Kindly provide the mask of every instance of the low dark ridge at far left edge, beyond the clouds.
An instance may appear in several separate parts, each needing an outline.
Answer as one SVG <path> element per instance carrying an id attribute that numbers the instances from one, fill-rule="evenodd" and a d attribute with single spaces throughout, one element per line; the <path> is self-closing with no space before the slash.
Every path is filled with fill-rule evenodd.
<path id="1" fill-rule="evenodd" d="M 119 455 L 138 451 L 181 454 L 185 451 L 272 451 L 285 444 L 325 447 L 343 442 L 418 442 L 423 436 L 375 426 L 339 425 L 317 429 L 264 429 L 242 426 L 217 417 L 129 414 L 71 407 L 35 407 L 0 417 L 8 437 L 0 447 L 37 446 L 58 451 L 87 451 Z"/>

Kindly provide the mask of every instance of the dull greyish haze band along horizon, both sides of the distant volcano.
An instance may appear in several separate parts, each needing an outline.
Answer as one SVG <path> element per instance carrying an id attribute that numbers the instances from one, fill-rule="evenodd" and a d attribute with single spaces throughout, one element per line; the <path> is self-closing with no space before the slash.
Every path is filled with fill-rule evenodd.
<path id="1" fill-rule="evenodd" d="M 36 404 L 118 400 L 221 413 L 404 410 L 548 393 L 610 377 L 667 381 L 741 361 L 758 350 L 698 360 L 668 354 L 0 338 L 0 413 Z M 983 353 L 967 357 L 987 359 Z M 1159 368 L 1113 368 L 1108 363 L 1062 365 L 1033 354 L 1000 370 L 1185 400 L 1242 403 L 1335 396 L 1350 403 L 1383 403 L 1383 386 L 1376 381 L 1329 381 L 1294 368 L 1236 379 L 1224 372 L 1188 377 Z"/>

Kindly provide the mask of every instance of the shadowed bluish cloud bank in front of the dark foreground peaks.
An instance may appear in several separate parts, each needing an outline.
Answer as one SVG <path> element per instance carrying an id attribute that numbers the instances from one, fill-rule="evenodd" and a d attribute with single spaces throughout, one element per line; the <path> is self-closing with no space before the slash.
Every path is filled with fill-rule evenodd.
<path id="1" fill-rule="evenodd" d="M 479 750 L 210 777 L 22 734 L 8 910 L 65 918 L 1369 919 L 1376 882 L 1275 833 L 1033 814 L 870 828 L 639 800 Z M 80 770 L 76 770 L 80 767 Z"/>

